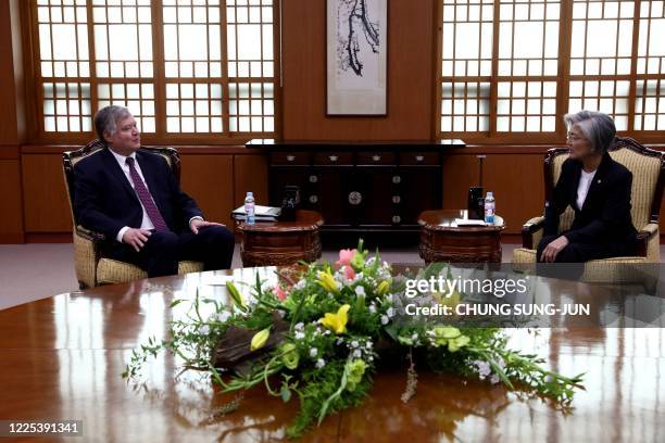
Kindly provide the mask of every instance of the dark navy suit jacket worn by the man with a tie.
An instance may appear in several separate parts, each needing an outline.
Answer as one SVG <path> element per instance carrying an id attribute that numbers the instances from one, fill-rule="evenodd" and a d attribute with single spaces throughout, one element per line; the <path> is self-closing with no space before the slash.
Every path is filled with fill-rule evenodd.
<path id="1" fill-rule="evenodd" d="M 180 190 L 162 156 L 138 151 L 136 161 L 172 231 L 187 230 L 191 217 L 203 216 L 197 203 Z M 143 212 L 139 199 L 108 148 L 74 166 L 74 211 L 80 225 L 104 233 L 110 242 L 124 226 L 140 228 Z"/>

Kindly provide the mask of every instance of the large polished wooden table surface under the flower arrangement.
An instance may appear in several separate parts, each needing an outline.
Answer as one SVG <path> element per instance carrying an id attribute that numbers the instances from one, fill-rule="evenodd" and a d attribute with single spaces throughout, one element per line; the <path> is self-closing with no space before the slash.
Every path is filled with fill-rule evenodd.
<path id="1" fill-rule="evenodd" d="M 275 280 L 275 268 L 256 268 Z M 224 282 L 252 282 L 256 269 L 164 277 L 55 295 L 0 311 L 0 420 L 83 420 L 73 442 L 272 441 L 284 438 L 298 403 L 263 385 L 240 408 L 215 416 L 231 395 L 214 394 L 201 372 L 180 374 L 167 354 L 149 360 L 143 382 L 121 374 L 131 350 L 165 338 L 184 315 L 174 298 L 227 300 Z M 602 287 L 540 279 L 553 295 L 602 303 Z M 565 325 L 564 325 L 565 326 Z M 405 367 L 379 371 L 365 403 L 328 417 L 304 441 L 665 441 L 665 329 L 515 330 L 513 347 L 542 355 L 550 367 L 586 372 L 565 415 L 539 398 L 500 385 L 418 371 L 416 395 L 403 404 Z M 0 438 L 0 442 L 10 441 Z M 26 440 L 27 441 L 27 440 Z M 30 439 L 29 441 L 52 441 Z"/>

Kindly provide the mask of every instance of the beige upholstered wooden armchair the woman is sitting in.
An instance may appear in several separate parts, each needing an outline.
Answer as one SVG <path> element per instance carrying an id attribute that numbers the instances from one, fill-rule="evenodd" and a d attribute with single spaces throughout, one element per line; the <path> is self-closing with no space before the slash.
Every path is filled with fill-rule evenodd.
<path id="1" fill-rule="evenodd" d="M 586 281 L 604 281 L 607 276 L 607 264 L 612 263 L 660 263 L 658 213 L 663 197 L 665 153 L 654 151 L 629 138 L 617 138 L 610 150 L 614 161 L 623 164 L 632 173 L 631 215 L 632 225 L 638 230 L 640 248 L 637 256 L 613 257 L 587 262 L 582 279 Z M 567 148 L 555 148 L 548 151 L 544 160 L 545 199 L 550 200 L 559 180 L 563 162 L 568 157 Z M 568 229 L 575 213 L 568 206 L 560 218 L 560 231 Z M 534 217 L 522 227 L 523 248 L 513 253 L 514 264 L 536 263 L 536 249 L 542 239 L 544 217 Z"/>

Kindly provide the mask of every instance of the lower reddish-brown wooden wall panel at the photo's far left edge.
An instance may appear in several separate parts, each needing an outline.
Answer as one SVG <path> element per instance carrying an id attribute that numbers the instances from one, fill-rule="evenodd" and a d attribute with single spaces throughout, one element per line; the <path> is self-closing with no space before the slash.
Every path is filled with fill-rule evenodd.
<path id="1" fill-rule="evenodd" d="M 21 199 L 21 164 L 17 160 L 0 160 L 0 243 L 23 242 L 23 202 Z"/>

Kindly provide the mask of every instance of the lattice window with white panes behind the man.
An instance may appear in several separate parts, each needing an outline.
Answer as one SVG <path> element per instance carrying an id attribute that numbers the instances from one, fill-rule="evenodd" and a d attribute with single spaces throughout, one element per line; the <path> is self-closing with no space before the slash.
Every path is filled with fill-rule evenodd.
<path id="1" fill-rule="evenodd" d="M 36 129 L 90 138 L 120 104 L 154 142 L 274 137 L 276 3 L 35 0 Z"/>

